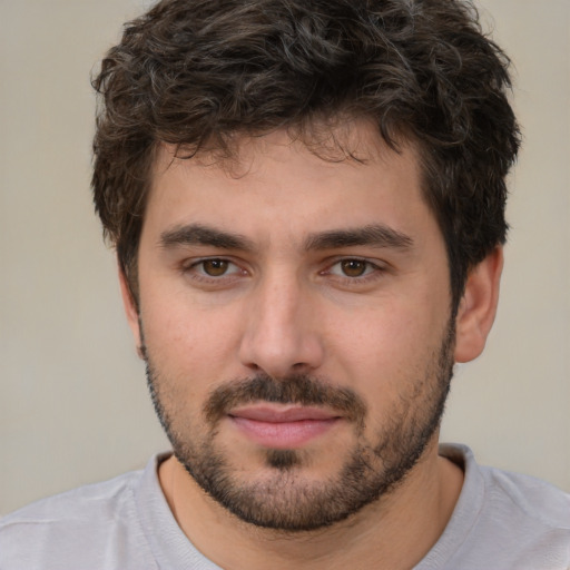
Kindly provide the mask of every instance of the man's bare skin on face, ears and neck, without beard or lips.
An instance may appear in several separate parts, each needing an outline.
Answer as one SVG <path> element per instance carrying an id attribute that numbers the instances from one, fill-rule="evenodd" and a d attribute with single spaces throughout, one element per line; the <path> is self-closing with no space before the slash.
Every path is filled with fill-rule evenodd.
<path id="1" fill-rule="evenodd" d="M 139 247 L 140 313 L 122 275 L 121 287 L 137 346 L 145 345 L 159 372 L 161 404 L 184 436 L 207 433 L 203 406 L 216 387 L 259 372 L 275 379 L 303 372 L 352 390 L 367 410 L 366 442 L 389 430 L 402 402 L 419 392 L 413 405 L 421 414 L 428 397 L 422 386 L 438 383 L 433 363 L 450 320 L 443 238 L 422 197 L 413 148 L 387 149 L 366 124 L 356 124 L 347 136 L 364 164 L 323 160 L 281 131 L 244 139 L 232 164 L 179 160 L 161 148 Z M 246 246 L 165 240 L 195 224 L 239 235 Z M 406 236 L 409 244 L 307 248 L 315 235 L 372 225 Z M 229 262 L 227 272 L 218 274 L 219 264 L 204 259 Z M 342 264 L 351 259 L 361 265 Z M 354 275 L 363 267 L 363 275 Z M 484 347 L 501 268 L 498 248 L 470 272 L 455 318 L 456 362 Z M 355 442 L 354 425 L 341 419 L 301 443 L 296 449 L 305 461 L 291 484 L 326 483 Z M 267 464 L 264 445 L 228 417 L 217 424 L 215 444 L 239 482 L 284 476 Z M 390 493 L 332 527 L 291 534 L 240 521 L 174 456 L 159 470 L 183 531 L 214 562 L 233 570 L 377 568 L 379 562 L 412 568 L 443 532 L 462 476 L 438 455 L 434 433 Z"/>

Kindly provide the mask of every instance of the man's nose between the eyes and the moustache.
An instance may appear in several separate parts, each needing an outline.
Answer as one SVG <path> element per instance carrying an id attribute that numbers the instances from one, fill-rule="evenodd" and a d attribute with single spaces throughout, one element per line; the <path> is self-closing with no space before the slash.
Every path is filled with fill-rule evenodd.
<path id="1" fill-rule="evenodd" d="M 242 364 L 275 379 L 318 368 L 323 342 L 315 298 L 285 272 L 262 279 L 247 304 L 239 346 Z"/>

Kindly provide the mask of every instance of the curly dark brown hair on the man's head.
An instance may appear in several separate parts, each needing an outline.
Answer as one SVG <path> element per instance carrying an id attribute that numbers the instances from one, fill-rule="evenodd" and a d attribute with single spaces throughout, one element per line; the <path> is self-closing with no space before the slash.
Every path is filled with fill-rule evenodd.
<path id="1" fill-rule="evenodd" d="M 158 145 L 232 154 L 236 135 L 366 118 L 419 150 L 452 306 L 507 234 L 520 134 L 509 59 L 461 0 L 163 0 L 102 60 L 92 189 L 135 299 Z M 350 155 L 350 151 L 348 151 Z"/>

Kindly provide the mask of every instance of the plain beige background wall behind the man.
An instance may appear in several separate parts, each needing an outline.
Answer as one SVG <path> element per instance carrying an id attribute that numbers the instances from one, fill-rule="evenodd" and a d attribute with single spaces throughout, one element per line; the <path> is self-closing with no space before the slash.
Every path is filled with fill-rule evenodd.
<path id="1" fill-rule="evenodd" d="M 0 513 L 166 446 L 89 195 L 89 72 L 148 3 L 0 0 Z M 570 491 L 570 2 L 481 3 L 525 142 L 498 321 L 444 439 Z"/>

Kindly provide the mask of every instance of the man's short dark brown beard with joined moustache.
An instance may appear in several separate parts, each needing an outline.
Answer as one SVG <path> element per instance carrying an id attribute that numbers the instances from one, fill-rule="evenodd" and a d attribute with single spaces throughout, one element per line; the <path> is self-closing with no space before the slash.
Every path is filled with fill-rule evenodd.
<path id="1" fill-rule="evenodd" d="M 227 382 L 209 394 L 200 417 L 188 420 L 188 411 L 168 389 L 168 379 L 154 366 L 148 350 L 142 346 L 141 351 L 155 411 L 188 474 L 242 521 L 299 532 L 343 521 L 403 483 L 440 426 L 453 375 L 454 345 L 450 322 L 439 351 L 423 371 L 407 379 L 406 390 L 387 410 L 373 438 L 365 436 L 368 412 L 357 393 L 308 374 L 283 379 L 256 374 Z M 313 461 L 309 451 L 265 449 L 263 475 L 240 479 L 228 450 L 217 441 L 218 426 L 232 409 L 253 402 L 326 406 L 351 422 L 355 443 L 341 469 L 325 480 L 311 480 L 303 474 Z"/>

